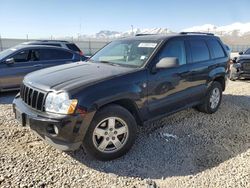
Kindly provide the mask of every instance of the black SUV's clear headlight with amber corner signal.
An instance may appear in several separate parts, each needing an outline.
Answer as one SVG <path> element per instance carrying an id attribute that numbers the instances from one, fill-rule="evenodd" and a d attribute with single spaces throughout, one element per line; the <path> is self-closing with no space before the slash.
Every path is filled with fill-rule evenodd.
<path id="1" fill-rule="evenodd" d="M 47 95 L 45 101 L 46 112 L 58 114 L 73 114 L 77 105 L 76 99 L 69 99 L 67 93 L 51 92 Z"/>

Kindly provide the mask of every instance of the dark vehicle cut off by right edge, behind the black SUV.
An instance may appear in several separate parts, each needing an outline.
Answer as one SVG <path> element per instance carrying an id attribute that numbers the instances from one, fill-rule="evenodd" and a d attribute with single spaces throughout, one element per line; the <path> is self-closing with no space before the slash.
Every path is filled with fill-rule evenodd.
<path id="1" fill-rule="evenodd" d="M 250 48 L 245 52 L 239 52 L 239 56 L 233 59 L 229 78 L 232 81 L 250 78 Z"/>

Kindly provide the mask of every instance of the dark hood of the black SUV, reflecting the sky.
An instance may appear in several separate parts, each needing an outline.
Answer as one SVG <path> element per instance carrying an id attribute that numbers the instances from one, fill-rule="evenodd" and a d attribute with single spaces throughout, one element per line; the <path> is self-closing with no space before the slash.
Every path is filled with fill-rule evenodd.
<path id="1" fill-rule="evenodd" d="M 77 62 L 32 72 L 25 76 L 24 83 L 45 91 L 70 91 L 134 70 L 104 63 Z"/>

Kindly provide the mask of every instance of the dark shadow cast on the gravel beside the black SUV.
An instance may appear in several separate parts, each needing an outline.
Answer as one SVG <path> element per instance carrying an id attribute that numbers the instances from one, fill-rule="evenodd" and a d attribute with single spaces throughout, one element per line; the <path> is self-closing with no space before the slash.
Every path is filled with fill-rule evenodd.
<path id="1" fill-rule="evenodd" d="M 67 154 L 83 165 L 118 176 L 195 175 L 249 149 L 249 115 L 249 96 L 223 95 L 215 114 L 188 109 L 140 127 L 134 147 L 119 159 L 97 161 L 83 149 Z"/>

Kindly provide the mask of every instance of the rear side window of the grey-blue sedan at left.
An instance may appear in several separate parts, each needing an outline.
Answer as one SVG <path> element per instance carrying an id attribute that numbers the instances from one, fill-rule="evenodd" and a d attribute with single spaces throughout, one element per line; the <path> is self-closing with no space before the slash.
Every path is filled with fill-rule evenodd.
<path id="1" fill-rule="evenodd" d="M 41 60 L 60 60 L 72 59 L 73 54 L 59 49 L 41 49 L 39 50 Z"/>

